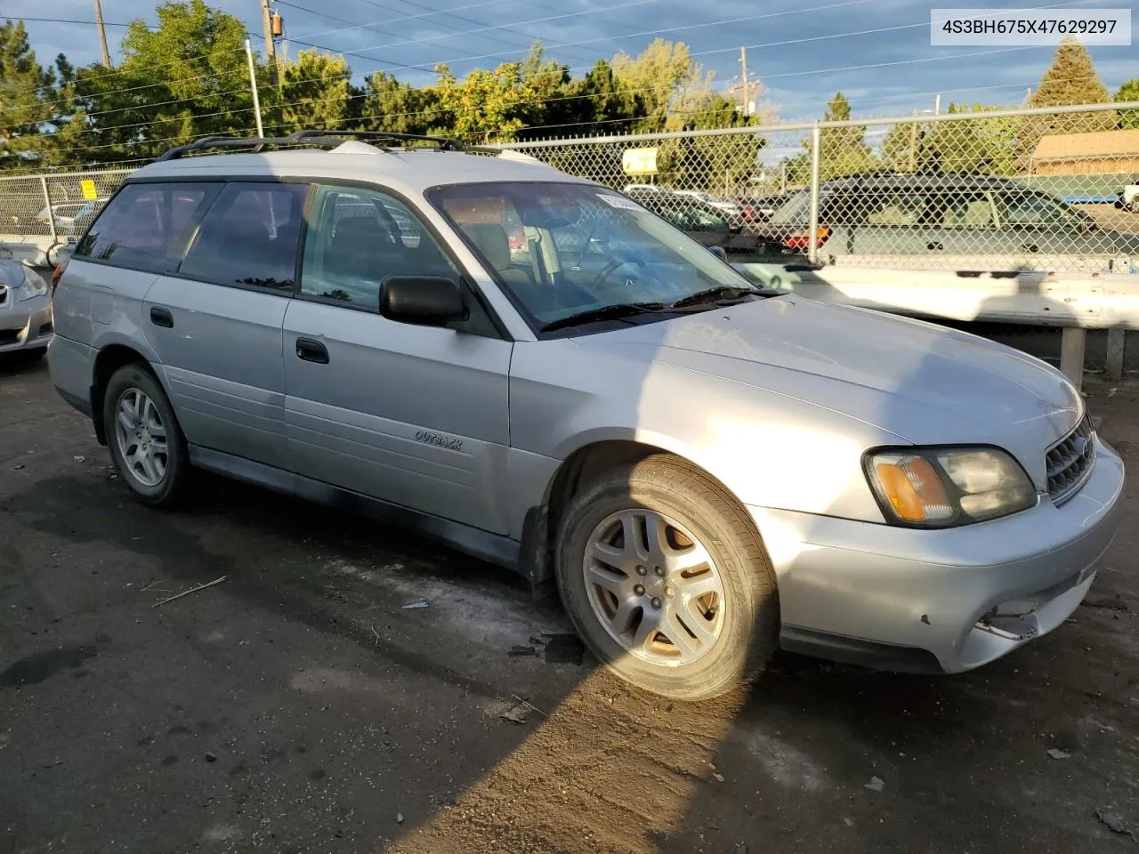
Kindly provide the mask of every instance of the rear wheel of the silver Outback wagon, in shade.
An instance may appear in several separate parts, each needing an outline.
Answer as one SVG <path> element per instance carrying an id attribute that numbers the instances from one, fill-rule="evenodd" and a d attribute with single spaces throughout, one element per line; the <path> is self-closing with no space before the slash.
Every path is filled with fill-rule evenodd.
<path id="1" fill-rule="evenodd" d="M 125 364 L 107 383 L 103 424 L 118 476 L 136 499 L 170 507 L 190 477 L 186 437 L 154 375 Z"/>

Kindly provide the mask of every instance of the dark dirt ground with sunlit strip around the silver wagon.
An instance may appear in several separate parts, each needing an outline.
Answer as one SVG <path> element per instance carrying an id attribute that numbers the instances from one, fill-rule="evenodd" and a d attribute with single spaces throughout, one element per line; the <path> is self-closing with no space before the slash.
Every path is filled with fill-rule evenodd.
<path id="1" fill-rule="evenodd" d="M 1134 852 L 1139 393 L 1089 395 L 1131 507 L 1067 625 L 682 705 L 428 542 L 216 479 L 148 510 L 42 363 L 2 366 L 0 854 Z"/>

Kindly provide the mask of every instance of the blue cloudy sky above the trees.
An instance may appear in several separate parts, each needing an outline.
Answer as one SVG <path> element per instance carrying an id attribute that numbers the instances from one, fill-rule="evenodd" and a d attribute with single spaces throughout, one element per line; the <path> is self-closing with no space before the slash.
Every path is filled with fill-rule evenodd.
<path id="1" fill-rule="evenodd" d="M 238 16 L 263 50 L 259 0 L 213 0 Z M 1055 47 L 939 47 L 929 44 L 929 10 L 1033 8 L 1021 0 L 296 0 L 273 3 L 285 19 L 295 56 L 311 42 L 346 56 L 360 76 L 386 69 L 412 84 L 431 82 L 429 69 L 446 63 L 462 75 L 472 68 L 522 59 L 536 39 L 549 56 L 580 75 L 618 50 L 636 55 L 653 39 L 687 43 L 724 84 L 740 73 L 747 47 L 748 77 L 767 87 L 765 97 L 782 121 L 817 118 L 836 90 L 855 116 L 909 115 L 932 110 L 941 93 L 949 101 L 1015 106 L 1039 84 Z M 1060 5 L 1056 5 L 1060 6 Z M 1130 9 L 1139 31 L 1139 0 L 1068 0 L 1064 8 Z M 6 17 L 27 20 L 41 63 L 66 54 L 75 65 L 99 60 L 92 0 L 0 0 Z M 120 24 L 157 20 L 153 0 L 103 0 L 112 60 L 118 55 Z M 1139 32 L 1136 35 L 1139 39 Z M 1139 76 L 1139 50 L 1090 49 L 1100 80 L 1114 93 Z M 359 77 L 354 82 L 359 82 Z"/>

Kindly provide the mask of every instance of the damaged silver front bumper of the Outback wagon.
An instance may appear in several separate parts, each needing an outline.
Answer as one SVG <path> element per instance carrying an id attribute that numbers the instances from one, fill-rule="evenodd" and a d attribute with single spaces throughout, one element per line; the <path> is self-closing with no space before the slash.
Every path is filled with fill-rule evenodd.
<path id="1" fill-rule="evenodd" d="M 1118 528 L 1123 461 L 1097 436 L 1067 502 L 948 531 L 749 508 L 779 583 L 781 643 L 836 660 L 959 673 L 1076 609 Z"/>

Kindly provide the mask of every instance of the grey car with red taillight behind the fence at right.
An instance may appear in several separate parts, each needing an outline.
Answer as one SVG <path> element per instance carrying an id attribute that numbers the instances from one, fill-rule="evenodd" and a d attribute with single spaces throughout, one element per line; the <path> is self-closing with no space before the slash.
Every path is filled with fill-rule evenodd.
<path id="1" fill-rule="evenodd" d="M 782 205 L 767 233 L 808 248 L 810 190 Z M 1139 253 L 1139 235 L 1105 230 L 1083 211 L 1019 181 L 995 176 L 869 174 L 823 182 L 820 257 L 945 256 L 1014 269 L 1081 256 L 1090 270 Z"/>

